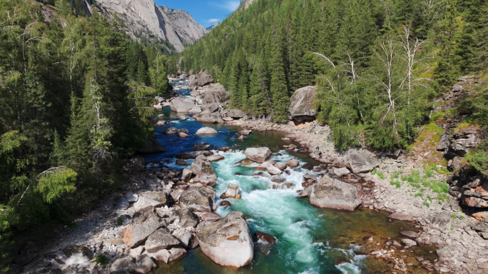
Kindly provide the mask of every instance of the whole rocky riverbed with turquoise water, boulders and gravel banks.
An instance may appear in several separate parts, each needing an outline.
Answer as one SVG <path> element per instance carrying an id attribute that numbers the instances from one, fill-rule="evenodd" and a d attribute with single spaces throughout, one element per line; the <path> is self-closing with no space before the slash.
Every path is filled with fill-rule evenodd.
<path id="1" fill-rule="evenodd" d="M 197 80 L 158 98 L 151 143 L 165 148 L 128 159 L 122 188 L 77 228 L 21 250 L 24 273 L 486 272 L 488 231 L 443 195 L 446 167 L 335 151 L 314 113 L 295 106 L 295 120 L 273 124 L 224 108 L 225 90 Z M 185 115 L 199 101 L 203 115 Z"/>

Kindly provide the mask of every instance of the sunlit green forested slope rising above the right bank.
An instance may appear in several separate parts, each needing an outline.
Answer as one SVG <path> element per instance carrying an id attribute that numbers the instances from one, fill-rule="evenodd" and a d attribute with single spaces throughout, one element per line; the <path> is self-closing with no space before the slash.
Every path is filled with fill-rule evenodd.
<path id="1" fill-rule="evenodd" d="M 484 73 L 487 8 L 484 0 L 258 0 L 185 49 L 181 69 L 207 69 L 233 107 L 276 122 L 288 121 L 297 88 L 318 85 L 318 118 L 335 146 L 407 148 L 436 96 L 459 76 Z"/>

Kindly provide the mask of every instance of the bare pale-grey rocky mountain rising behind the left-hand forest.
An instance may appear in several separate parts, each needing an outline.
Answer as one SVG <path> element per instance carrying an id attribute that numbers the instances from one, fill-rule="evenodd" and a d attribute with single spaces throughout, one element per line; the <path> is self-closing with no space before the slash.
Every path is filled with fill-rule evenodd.
<path id="1" fill-rule="evenodd" d="M 158 6 L 153 0 L 96 0 L 95 5 L 106 14 L 116 12 L 133 39 L 142 36 L 168 41 L 178 52 L 208 32 L 188 12 Z"/>

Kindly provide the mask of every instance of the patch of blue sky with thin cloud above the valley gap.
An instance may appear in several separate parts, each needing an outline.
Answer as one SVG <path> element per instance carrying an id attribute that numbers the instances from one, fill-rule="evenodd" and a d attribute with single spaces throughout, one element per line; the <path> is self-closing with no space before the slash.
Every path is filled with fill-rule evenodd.
<path id="1" fill-rule="evenodd" d="M 154 0 L 158 6 L 187 11 L 198 24 L 212 26 L 225 19 L 225 15 L 235 11 L 240 0 Z"/>

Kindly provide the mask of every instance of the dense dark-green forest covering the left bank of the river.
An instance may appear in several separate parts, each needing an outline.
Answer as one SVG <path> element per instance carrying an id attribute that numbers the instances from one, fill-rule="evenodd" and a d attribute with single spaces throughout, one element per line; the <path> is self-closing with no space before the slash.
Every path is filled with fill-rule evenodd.
<path id="1" fill-rule="evenodd" d="M 12 235 L 70 225 L 118 186 L 121 158 L 153 133 L 143 97 L 168 91 L 157 45 L 77 8 L 0 0 L 0 273 Z"/>

